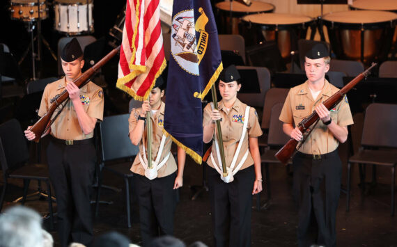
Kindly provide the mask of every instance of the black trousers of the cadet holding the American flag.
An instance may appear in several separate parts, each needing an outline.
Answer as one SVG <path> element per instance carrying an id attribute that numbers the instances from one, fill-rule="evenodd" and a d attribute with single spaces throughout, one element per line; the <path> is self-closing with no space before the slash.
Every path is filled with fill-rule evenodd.
<path id="1" fill-rule="evenodd" d="M 173 189 L 176 173 L 149 180 L 135 174 L 138 185 L 139 222 L 143 246 L 162 235 L 173 235 L 176 191 Z"/>

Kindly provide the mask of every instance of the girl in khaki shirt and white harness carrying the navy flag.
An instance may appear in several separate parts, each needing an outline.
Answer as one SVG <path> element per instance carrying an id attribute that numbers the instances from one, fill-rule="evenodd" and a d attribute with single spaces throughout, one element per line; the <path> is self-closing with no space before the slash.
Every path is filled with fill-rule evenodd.
<path id="1" fill-rule="evenodd" d="M 209 143 L 215 133 L 215 120 L 221 120 L 222 140 L 228 177 L 222 177 L 217 143 L 212 141 L 208 159 L 208 182 L 214 246 L 251 246 L 252 195 L 262 191 L 258 136 L 262 130 L 254 108 L 237 98 L 240 74 L 234 65 L 219 75 L 222 100 L 218 111 L 205 106 L 203 141 Z M 248 109 L 248 110 L 247 110 Z M 247 119 L 248 118 L 248 119 Z"/>

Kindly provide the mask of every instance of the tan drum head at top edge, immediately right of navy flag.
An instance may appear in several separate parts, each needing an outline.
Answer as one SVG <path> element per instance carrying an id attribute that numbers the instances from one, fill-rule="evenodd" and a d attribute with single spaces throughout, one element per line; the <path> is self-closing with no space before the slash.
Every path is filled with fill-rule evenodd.
<path id="1" fill-rule="evenodd" d="M 231 2 L 221 1 L 215 5 L 219 10 L 230 11 Z M 261 1 L 252 1 L 251 6 L 247 6 L 244 3 L 233 1 L 232 12 L 242 13 L 260 13 L 260 12 L 271 12 L 274 10 L 274 6 L 270 3 L 263 3 Z"/>

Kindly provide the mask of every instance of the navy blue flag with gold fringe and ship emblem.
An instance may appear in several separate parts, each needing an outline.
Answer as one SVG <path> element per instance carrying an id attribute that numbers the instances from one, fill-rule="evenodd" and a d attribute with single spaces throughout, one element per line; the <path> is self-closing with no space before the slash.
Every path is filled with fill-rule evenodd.
<path id="1" fill-rule="evenodd" d="M 174 0 L 164 129 L 194 161 L 203 153 L 201 100 L 223 70 L 209 0 Z"/>

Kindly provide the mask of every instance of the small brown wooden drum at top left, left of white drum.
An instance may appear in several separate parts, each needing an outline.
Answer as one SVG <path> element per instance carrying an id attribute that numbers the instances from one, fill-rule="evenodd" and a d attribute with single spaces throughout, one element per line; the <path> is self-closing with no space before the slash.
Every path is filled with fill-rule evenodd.
<path id="1" fill-rule="evenodd" d="M 40 19 L 48 17 L 48 8 L 45 0 L 40 0 L 38 7 L 37 0 L 11 0 L 10 2 L 11 19 L 22 19 L 24 22 L 30 22 L 38 19 L 40 9 Z"/>

